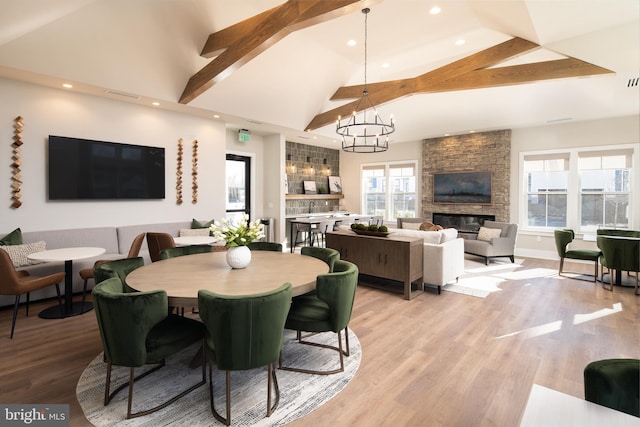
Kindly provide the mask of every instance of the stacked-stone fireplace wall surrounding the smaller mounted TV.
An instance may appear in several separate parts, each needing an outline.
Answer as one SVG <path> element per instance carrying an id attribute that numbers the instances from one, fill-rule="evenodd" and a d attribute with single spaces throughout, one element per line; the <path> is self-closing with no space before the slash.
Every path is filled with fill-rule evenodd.
<path id="1" fill-rule="evenodd" d="M 433 174 L 491 172 L 491 204 L 433 203 Z M 495 215 L 508 222 L 511 130 L 425 139 L 422 143 L 422 217 L 433 212 Z"/>

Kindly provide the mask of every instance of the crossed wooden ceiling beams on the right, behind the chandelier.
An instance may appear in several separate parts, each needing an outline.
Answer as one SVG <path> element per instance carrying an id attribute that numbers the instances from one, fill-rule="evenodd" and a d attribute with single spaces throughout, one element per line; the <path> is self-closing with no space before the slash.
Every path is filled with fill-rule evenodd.
<path id="1" fill-rule="evenodd" d="M 367 84 L 369 99 L 373 105 L 381 105 L 417 93 L 478 89 L 612 73 L 611 70 L 575 58 L 488 68 L 538 47 L 535 43 L 515 37 L 417 77 Z M 363 90 L 364 85 L 341 87 L 331 100 L 360 98 Z M 359 104 L 360 99 L 356 99 L 320 113 L 311 120 L 306 130 L 335 123 L 338 117 L 346 117 L 367 107 L 362 105 L 359 108 Z"/>

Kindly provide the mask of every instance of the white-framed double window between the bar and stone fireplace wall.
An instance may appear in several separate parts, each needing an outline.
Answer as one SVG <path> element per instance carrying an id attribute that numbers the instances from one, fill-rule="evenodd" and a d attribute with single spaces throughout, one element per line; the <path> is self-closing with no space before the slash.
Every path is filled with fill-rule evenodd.
<path id="1" fill-rule="evenodd" d="M 416 216 L 416 162 L 362 167 L 362 213 L 385 219 Z"/>

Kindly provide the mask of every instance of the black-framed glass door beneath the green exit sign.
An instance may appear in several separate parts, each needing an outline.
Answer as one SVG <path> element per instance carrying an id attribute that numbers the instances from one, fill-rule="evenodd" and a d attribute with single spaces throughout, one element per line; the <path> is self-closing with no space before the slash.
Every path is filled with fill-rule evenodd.
<path id="1" fill-rule="evenodd" d="M 251 158 L 227 154 L 226 180 L 227 220 L 251 217 Z"/>

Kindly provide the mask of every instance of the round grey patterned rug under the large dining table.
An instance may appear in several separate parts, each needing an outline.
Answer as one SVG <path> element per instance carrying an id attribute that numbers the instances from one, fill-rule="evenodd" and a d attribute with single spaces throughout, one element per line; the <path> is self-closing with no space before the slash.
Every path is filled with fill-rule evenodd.
<path id="1" fill-rule="evenodd" d="M 323 333 L 312 337 L 316 342 L 337 344 L 336 334 Z M 231 373 L 231 425 L 236 426 L 281 426 L 301 418 L 335 397 L 355 376 L 362 356 L 357 336 L 349 331 L 351 355 L 345 357 L 344 372 L 333 375 L 310 375 L 278 370 L 280 405 L 271 417 L 266 418 L 267 373 L 266 367 L 250 371 Z M 167 359 L 167 365 L 159 371 L 136 381 L 133 410 L 141 406 L 151 407 L 177 394 L 190 384 L 198 382 L 199 368 L 189 369 L 198 346 L 183 350 Z M 295 341 L 294 331 L 285 331 L 283 360 L 285 364 L 332 369 L 339 364 L 335 351 L 301 345 Z M 138 368 L 141 370 L 143 368 Z M 112 390 L 127 381 L 128 368 L 114 367 Z M 214 368 L 216 408 L 224 414 L 224 372 Z M 82 410 L 95 426 L 209 426 L 221 425 L 211 414 L 209 406 L 209 384 L 205 384 L 179 399 L 167 408 L 132 420 L 126 420 L 127 391 L 120 391 L 108 406 L 103 405 L 106 363 L 100 353 L 87 366 L 76 387 L 76 395 Z M 115 385 L 115 386 L 114 386 Z M 185 386 L 186 385 L 186 386 Z"/>

